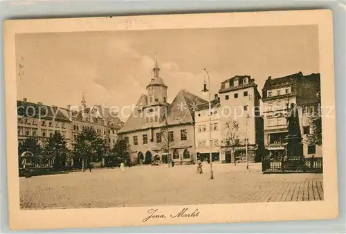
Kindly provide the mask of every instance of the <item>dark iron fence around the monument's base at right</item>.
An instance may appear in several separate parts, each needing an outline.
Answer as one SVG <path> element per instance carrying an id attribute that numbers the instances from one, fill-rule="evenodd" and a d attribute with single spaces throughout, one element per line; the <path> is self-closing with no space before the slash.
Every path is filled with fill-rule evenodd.
<path id="1" fill-rule="evenodd" d="M 323 160 L 322 157 L 292 157 L 286 158 L 278 156 L 271 158 L 269 156 L 262 159 L 262 172 L 263 173 L 322 173 Z"/>

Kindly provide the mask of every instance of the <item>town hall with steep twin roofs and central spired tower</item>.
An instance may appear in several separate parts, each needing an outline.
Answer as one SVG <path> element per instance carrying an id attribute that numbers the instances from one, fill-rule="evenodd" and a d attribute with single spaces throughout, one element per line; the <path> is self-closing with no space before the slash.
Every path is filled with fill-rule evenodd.
<path id="1" fill-rule="evenodd" d="M 190 163 L 195 159 L 194 110 L 206 100 L 183 89 L 168 103 L 157 61 L 153 73 L 147 94 L 140 96 L 119 137 L 128 141 L 132 163 Z"/>

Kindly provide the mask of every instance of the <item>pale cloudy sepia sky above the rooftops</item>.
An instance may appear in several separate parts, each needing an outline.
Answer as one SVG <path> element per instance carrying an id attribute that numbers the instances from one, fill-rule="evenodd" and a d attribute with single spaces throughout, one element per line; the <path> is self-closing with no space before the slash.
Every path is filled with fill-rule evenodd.
<path id="1" fill-rule="evenodd" d="M 168 102 L 181 89 L 205 98 L 204 68 L 212 93 L 235 75 L 251 75 L 262 93 L 268 76 L 319 73 L 318 51 L 317 26 L 21 34 L 17 99 L 66 108 L 84 92 L 86 105 L 136 105 L 155 57 Z"/>

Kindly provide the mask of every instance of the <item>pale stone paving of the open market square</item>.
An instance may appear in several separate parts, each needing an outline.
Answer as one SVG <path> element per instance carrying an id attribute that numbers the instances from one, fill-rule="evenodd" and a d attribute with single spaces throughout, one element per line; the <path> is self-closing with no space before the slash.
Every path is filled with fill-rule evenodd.
<path id="1" fill-rule="evenodd" d="M 323 199 L 322 174 L 262 174 L 260 164 L 143 165 L 19 178 L 21 208 L 104 208 Z"/>

